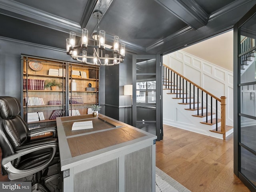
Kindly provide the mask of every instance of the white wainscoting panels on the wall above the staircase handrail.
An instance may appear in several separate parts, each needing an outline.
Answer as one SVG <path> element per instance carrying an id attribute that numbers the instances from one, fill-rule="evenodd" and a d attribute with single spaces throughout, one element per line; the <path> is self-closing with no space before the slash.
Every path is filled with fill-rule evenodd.
<path id="1" fill-rule="evenodd" d="M 233 72 L 182 50 L 165 55 L 163 60 L 164 64 L 210 93 L 219 98 L 226 96 L 226 125 L 233 126 Z M 163 105 L 165 102 L 163 100 Z"/>

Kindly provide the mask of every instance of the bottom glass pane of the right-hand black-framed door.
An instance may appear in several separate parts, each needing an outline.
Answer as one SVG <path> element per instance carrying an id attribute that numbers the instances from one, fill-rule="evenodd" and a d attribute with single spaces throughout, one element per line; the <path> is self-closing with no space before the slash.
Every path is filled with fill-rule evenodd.
<path id="1" fill-rule="evenodd" d="M 241 147 L 241 172 L 252 183 L 256 182 L 256 156 Z"/>

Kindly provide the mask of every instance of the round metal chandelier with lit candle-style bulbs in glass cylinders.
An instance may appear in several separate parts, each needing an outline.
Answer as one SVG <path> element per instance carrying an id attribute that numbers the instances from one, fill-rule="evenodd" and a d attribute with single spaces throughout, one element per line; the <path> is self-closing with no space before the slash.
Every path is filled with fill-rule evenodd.
<path id="1" fill-rule="evenodd" d="M 124 61 L 125 44 L 121 43 L 119 48 L 119 37 L 114 36 L 113 46 L 105 44 L 105 31 L 99 30 L 99 21 L 103 14 L 100 10 L 93 12 L 97 19 L 97 31 L 92 34 L 93 45 L 88 44 L 88 30 L 82 29 L 81 45 L 75 45 L 76 34 L 69 33 L 66 39 L 67 54 L 74 60 L 93 65 L 116 65 Z"/>

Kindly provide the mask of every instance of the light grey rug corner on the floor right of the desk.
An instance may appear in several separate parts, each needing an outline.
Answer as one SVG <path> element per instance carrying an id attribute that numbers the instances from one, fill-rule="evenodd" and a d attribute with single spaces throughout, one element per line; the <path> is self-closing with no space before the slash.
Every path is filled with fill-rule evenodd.
<path id="1" fill-rule="evenodd" d="M 191 192 L 156 167 L 156 192 Z"/>

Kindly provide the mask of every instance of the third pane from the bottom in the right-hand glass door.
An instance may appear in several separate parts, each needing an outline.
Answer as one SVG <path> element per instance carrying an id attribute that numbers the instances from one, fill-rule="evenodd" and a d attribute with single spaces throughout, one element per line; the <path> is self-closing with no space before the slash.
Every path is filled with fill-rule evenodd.
<path id="1" fill-rule="evenodd" d="M 255 85 L 240 87 L 240 109 L 242 114 L 256 116 L 255 114 Z"/>

